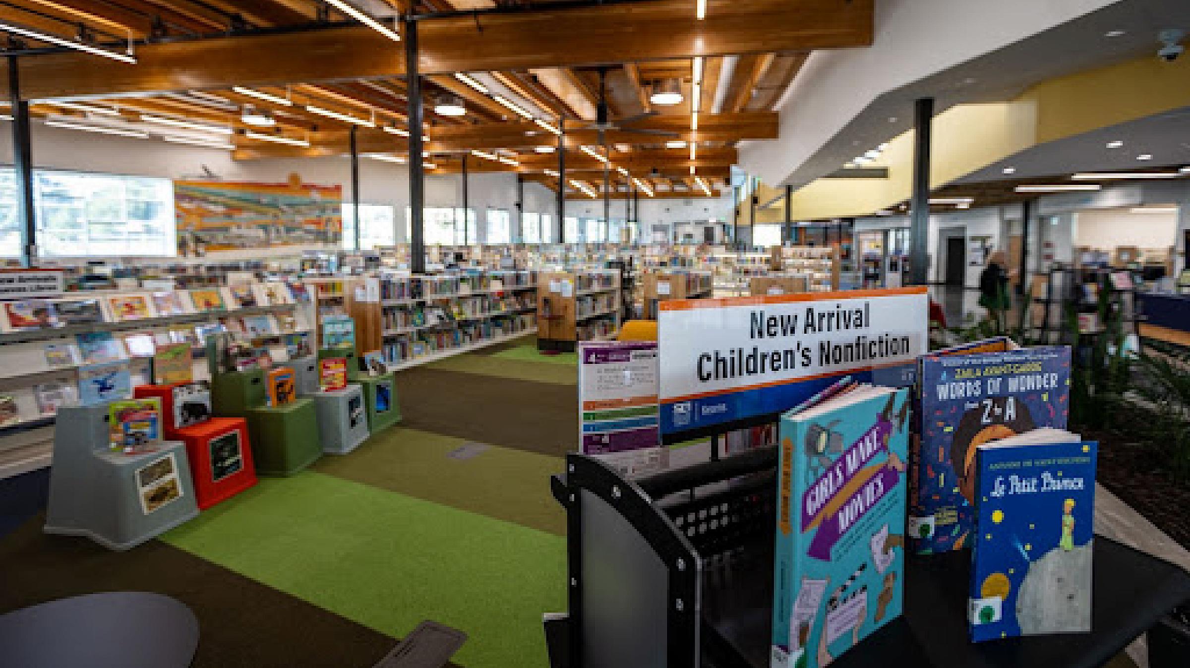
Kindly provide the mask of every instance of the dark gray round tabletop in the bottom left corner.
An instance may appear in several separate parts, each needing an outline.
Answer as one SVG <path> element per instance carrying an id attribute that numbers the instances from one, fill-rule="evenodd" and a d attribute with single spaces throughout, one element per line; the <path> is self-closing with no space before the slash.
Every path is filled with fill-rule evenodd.
<path id="1" fill-rule="evenodd" d="M 198 647 L 190 608 L 149 592 L 87 594 L 0 616 L 0 666 L 186 668 Z"/>

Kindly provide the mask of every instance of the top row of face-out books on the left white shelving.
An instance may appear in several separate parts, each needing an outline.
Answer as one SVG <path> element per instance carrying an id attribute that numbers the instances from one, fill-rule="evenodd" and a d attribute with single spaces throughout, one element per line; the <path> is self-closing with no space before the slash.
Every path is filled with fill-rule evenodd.
<path id="1" fill-rule="evenodd" d="M 283 304 L 294 304 L 294 295 L 289 286 L 282 282 L 89 298 L 26 299 L 4 302 L 0 327 L 6 332 L 36 331 Z"/>

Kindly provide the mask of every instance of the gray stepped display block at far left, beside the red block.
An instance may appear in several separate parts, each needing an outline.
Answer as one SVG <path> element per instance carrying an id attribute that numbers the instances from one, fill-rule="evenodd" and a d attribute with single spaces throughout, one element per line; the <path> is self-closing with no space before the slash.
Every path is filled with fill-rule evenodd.
<path id="1" fill-rule="evenodd" d="M 199 508 L 186 445 L 164 441 L 152 452 L 112 452 L 107 413 L 107 404 L 58 408 L 45 532 L 127 550 Z"/>

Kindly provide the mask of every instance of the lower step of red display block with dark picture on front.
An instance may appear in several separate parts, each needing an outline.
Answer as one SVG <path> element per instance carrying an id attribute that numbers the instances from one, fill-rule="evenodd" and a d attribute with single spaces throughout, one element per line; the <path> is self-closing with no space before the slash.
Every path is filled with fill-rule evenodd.
<path id="1" fill-rule="evenodd" d="M 211 418 L 177 430 L 177 438 L 186 442 L 199 510 L 205 511 L 256 485 L 244 418 Z"/>

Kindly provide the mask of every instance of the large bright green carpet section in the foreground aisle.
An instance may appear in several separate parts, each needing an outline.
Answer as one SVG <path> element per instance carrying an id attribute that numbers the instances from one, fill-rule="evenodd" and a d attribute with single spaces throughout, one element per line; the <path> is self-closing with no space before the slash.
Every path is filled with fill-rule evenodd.
<path id="1" fill-rule="evenodd" d="M 566 603 L 564 538 L 312 472 L 163 539 L 392 636 L 462 629 L 470 668 L 546 667 L 541 613 Z"/>

